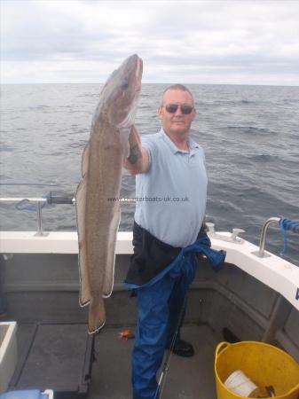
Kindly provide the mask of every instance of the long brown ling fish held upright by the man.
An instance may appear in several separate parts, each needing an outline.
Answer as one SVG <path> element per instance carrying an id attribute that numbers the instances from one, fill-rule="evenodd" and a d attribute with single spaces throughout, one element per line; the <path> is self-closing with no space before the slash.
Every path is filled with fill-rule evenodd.
<path id="1" fill-rule="evenodd" d="M 90 140 L 83 152 L 82 180 L 75 194 L 79 239 L 80 305 L 89 305 L 89 332 L 106 320 L 103 298 L 114 284 L 114 249 L 120 223 L 122 163 L 141 89 L 142 60 L 126 59 L 99 94 Z M 110 199 L 110 200 L 109 200 Z"/>

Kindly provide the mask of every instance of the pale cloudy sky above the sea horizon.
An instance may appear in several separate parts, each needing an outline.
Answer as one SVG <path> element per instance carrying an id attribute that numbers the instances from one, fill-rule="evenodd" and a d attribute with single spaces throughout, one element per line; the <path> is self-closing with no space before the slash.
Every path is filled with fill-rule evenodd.
<path id="1" fill-rule="evenodd" d="M 297 0 L 0 0 L 1 83 L 299 85 Z"/>

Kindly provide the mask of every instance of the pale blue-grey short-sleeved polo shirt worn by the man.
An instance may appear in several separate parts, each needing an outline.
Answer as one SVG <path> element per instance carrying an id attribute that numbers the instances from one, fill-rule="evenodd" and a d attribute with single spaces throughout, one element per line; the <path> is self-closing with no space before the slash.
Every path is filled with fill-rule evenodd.
<path id="1" fill-rule="evenodd" d="M 150 167 L 136 176 L 135 220 L 171 246 L 193 244 L 207 202 L 208 177 L 201 145 L 190 139 L 190 152 L 178 150 L 163 129 L 141 139 Z"/>

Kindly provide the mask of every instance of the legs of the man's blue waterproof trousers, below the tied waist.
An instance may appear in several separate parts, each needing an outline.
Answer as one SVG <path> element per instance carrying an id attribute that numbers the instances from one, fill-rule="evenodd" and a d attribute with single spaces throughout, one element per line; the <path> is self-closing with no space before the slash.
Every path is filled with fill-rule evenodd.
<path id="1" fill-rule="evenodd" d="M 182 308 L 188 286 L 184 277 L 174 278 L 168 274 L 153 286 L 138 289 L 138 325 L 132 355 L 134 399 L 155 397 L 156 372 L 161 366 L 164 349 L 176 332 L 178 319 L 183 321 L 184 317 L 180 316 L 185 313 Z"/>

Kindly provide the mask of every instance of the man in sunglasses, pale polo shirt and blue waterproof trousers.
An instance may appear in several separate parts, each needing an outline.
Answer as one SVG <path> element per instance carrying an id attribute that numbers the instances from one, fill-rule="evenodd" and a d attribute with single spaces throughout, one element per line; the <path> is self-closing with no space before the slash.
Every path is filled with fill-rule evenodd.
<path id="1" fill-rule="evenodd" d="M 133 398 L 158 398 L 156 379 L 165 348 L 193 356 L 180 337 L 185 296 L 204 253 L 215 269 L 224 252 L 210 249 L 204 230 L 208 178 L 201 145 L 190 137 L 193 95 L 181 84 L 164 90 L 160 132 L 140 137 L 133 126 L 124 167 L 136 176 L 134 254 L 125 280 L 138 297 L 132 353 Z"/>

